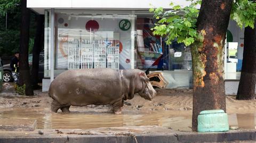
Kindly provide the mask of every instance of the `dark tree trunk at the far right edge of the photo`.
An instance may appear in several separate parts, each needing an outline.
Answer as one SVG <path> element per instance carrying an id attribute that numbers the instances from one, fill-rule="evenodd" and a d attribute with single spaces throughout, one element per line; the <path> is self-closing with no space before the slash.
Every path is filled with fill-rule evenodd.
<path id="1" fill-rule="evenodd" d="M 241 78 L 238 86 L 236 99 L 255 99 L 256 83 L 256 21 L 254 29 L 246 27 L 244 30 L 244 53 Z"/>

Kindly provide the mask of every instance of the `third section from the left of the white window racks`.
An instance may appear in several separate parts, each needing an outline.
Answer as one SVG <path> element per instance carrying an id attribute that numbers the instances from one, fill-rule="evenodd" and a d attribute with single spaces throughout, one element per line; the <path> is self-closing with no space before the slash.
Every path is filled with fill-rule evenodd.
<path id="1" fill-rule="evenodd" d="M 94 48 L 94 68 L 106 68 L 106 45 L 103 44 L 103 40 L 95 40 L 93 44 Z"/>

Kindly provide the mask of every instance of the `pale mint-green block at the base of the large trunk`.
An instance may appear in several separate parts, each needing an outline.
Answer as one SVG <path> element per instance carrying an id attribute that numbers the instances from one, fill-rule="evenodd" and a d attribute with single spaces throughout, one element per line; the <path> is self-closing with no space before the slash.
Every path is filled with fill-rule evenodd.
<path id="1" fill-rule="evenodd" d="M 223 110 L 205 110 L 197 117 L 198 132 L 228 131 L 228 115 Z"/>

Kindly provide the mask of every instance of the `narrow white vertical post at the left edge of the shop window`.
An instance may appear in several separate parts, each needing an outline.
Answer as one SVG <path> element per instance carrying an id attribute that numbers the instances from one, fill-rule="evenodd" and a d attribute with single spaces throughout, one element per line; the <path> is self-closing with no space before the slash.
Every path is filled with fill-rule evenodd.
<path id="1" fill-rule="evenodd" d="M 54 19 L 54 9 L 51 9 L 51 48 L 50 48 L 50 51 L 51 51 L 51 55 L 50 55 L 50 60 L 51 60 L 51 74 L 50 74 L 50 77 L 51 77 L 51 82 L 53 81 L 54 79 L 54 23 L 55 23 L 55 19 Z"/>

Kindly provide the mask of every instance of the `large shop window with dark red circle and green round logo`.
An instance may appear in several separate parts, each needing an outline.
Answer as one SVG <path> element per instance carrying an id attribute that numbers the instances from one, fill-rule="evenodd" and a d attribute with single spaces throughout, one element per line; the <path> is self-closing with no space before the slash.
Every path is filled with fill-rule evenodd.
<path id="1" fill-rule="evenodd" d="M 131 69 L 134 15 L 86 12 L 57 12 L 56 15 L 58 42 L 54 75 L 71 69 Z"/>

